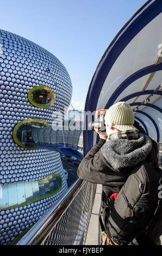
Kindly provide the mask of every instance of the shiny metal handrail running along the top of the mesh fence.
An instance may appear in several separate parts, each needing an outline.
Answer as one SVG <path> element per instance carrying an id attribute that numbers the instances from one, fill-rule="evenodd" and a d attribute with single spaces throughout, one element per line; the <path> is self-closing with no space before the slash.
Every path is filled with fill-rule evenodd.
<path id="1" fill-rule="evenodd" d="M 45 215 L 19 240 L 16 245 L 41 245 L 46 240 L 50 230 L 59 222 L 68 206 L 73 202 L 85 181 L 78 179 L 65 194 L 59 198 Z"/>

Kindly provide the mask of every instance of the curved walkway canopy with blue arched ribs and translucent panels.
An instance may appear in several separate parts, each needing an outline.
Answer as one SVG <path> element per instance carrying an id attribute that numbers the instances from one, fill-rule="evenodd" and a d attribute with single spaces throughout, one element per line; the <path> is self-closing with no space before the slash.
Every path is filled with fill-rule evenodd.
<path id="1" fill-rule="evenodd" d="M 99 62 L 85 111 L 127 101 L 148 136 L 161 143 L 162 2 L 146 2 L 123 26 Z M 97 134 L 84 131 L 84 155 Z"/>

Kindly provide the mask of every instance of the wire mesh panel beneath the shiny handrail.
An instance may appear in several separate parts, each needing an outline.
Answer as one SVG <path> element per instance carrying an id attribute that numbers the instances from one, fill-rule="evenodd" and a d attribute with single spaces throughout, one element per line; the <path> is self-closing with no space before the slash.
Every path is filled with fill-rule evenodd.
<path id="1" fill-rule="evenodd" d="M 85 182 L 42 245 L 84 245 L 96 185 Z"/>

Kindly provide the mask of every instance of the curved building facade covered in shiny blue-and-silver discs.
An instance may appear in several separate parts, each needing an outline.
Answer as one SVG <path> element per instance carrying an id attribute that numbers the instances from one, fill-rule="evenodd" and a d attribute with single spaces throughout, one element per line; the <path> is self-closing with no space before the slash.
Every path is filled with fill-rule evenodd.
<path id="1" fill-rule="evenodd" d="M 33 105 L 28 94 L 34 87 L 50 88 L 51 105 Z M 60 154 L 20 147 L 13 129 L 27 119 L 52 126 L 55 112 L 64 116 L 71 96 L 70 76 L 53 54 L 0 29 L 0 245 L 18 239 L 67 190 Z"/>

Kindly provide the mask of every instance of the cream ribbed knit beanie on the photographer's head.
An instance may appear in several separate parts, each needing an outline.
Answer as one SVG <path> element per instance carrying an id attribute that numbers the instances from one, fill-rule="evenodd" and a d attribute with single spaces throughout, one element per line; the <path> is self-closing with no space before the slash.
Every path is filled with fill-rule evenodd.
<path id="1" fill-rule="evenodd" d="M 127 102 L 120 101 L 111 106 L 105 114 L 105 123 L 120 131 L 138 130 L 134 124 L 134 113 Z"/>

